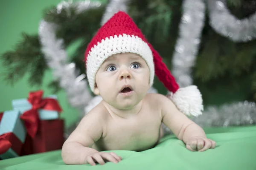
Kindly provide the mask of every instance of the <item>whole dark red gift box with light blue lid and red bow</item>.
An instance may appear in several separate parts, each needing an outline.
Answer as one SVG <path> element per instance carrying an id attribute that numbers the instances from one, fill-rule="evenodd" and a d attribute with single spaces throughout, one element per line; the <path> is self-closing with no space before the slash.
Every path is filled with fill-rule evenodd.
<path id="1" fill-rule="evenodd" d="M 21 155 L 61 149 L 64 143 L 64 121 L 57 96 L 43 97 L 43 91 L 32 91 L 27 99 L 12 101 L 14 110 L 22 112 L 20 119 L 26 127 L 27 136 Z"/>

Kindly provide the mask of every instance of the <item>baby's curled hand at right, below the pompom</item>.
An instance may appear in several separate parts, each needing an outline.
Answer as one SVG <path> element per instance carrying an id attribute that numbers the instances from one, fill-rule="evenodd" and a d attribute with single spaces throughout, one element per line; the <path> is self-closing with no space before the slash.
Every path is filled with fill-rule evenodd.
<path id="1" fill-rule="evenodd" d="M 191 151 L 203 152 L 209 148 L 214 148 L 216 145 L 215 141 L 207 139 L 203 136 L 195 136 L 189 139 L 186 143 L 186 148 Z"/>

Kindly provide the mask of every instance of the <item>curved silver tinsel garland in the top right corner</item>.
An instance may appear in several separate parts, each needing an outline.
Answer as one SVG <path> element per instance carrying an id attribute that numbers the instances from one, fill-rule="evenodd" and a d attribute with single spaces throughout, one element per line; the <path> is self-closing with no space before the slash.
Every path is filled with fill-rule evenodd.
<path id="1" fill-rule="evenodd" d="M 248 18 L 237 19 L 227 8 L 226 0 L 207 0 L 212 28 L 234 42 L 256 38 L 256 12 Z"/>

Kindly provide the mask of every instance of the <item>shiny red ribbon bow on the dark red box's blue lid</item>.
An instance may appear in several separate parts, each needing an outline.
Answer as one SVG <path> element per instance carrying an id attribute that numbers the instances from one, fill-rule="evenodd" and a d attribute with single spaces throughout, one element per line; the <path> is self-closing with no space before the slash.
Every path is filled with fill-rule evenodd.
<path id="1" fill-rule="evenodd" d="M 43 98 L 43 94 L 44 92 L 42 90 L 30 92 L 28 102 L 32 105 L 32 108 L 20 116 L 20 119 L 24 120 L 28 135 L 32 138 L 35 137 L 35 134 L 38 130 L 38 109 L 58 112 L 62 111 L 57 100 L 51 98 Z"/>

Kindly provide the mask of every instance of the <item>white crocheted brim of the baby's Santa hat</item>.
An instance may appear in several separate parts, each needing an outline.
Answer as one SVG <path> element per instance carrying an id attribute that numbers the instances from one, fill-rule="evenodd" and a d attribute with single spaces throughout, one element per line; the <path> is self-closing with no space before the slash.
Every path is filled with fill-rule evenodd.
<path id="1" fill-rule="evenodd" d="M 122 34 L 118 37 L 116 35 L 110 38 L 107 37 L 91 49 L 87 57 L 87 78 L 92 91 L 94 89 L 96 72 L 105 59 L 113 54 L 128 52 L 139 54 L 145 60 L 150 72 L 149 84 L 150 86 L 153 84 L 154 63 L 150 48 L 139 37 Z"/>

